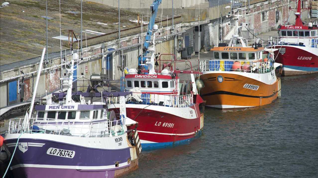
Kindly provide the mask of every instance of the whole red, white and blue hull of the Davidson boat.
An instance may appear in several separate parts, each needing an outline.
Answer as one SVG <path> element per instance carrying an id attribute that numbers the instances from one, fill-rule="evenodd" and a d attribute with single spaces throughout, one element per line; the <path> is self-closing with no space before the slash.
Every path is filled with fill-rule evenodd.
<path id="1" fill-rule="evenodd" d="M 108 109 L 119 111 L 114 105 Z M 129 118 L 138 122 L 143 150 L 189 143 L 199 137 L 203 130 L 204 114 L 200 113 L 198 104 L 180 108 L 126 104 L 126 113 Z"/>

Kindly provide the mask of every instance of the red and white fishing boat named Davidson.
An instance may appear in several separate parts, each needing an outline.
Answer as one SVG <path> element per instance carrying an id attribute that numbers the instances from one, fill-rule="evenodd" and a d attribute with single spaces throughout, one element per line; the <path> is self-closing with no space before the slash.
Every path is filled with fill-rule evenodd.
<path id="1" fill-rule="evenodd" d="M 155 54 L 155 41 L 158 27 L 154 25 L 152 46 L 147 48 L 145 65 L 149 71 L 137 74 L 136 69 L 130 69 L 125 77 L 126 90 L 132 91 L 126 97 L 127 117 L 138 122 L 138 133 L 143 149 L 156 149 L 181 143 L 201 135 L 203 130 L 204 101 L 197 93 L 194 74 L 199 72 L 178 71 L 176 60 L 163 64 L 162 70 L 155 70 L 155 59 L 159 63 L 162 55 Z M 183 61 L 184 62 L 184 61 Z M 191 63 L 187 61 L 188 64 Z M 168 69 L 164 69 L 168 66 Z M 187 73 L 191 81 L 180 81 L 178 74 Z M 181 83 L 181 84 L 179 84 Z M 111 100 L 113 105 L 108 109 L 118 113 L 118 99 Z"/>

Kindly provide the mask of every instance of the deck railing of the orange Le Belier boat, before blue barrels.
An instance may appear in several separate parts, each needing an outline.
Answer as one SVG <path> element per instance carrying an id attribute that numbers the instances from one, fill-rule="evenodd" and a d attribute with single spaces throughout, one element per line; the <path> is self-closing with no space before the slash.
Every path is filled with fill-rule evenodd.
<path id="1" fill-rule="evenodd" d="M 246 60 L 200 60 L 200 71 L 233 71 L 245 73 L 268 73 L 273 70 L 273 61 Z"/>

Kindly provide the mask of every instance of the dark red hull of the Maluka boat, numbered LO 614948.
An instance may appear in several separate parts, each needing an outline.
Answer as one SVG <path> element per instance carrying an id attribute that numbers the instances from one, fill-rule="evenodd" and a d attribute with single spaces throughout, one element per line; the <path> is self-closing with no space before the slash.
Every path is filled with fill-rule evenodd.
<path id="1" fill-rule="evenodd" d="M 282 75 L 301 75 L 318 73 L 318 48 L 303 46 L 278 45 L 275 60 L 281 63 Z"/>

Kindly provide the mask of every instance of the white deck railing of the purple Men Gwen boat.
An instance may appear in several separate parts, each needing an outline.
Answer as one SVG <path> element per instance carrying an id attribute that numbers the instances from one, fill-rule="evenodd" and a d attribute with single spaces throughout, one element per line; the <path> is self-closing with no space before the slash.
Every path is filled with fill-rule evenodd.
<path id="1" fill-rule="evenodd" d="M 42 120 L 43 119 L 43 120 Z M 112 137 L 125 133 L 125 118 L 114 121 L 71 121 L 51 118 L 29 118 L 29 123 L 24 123 L 24 118 L 9 120 L 7 133 L 46 133 L 74 137 Z"/>

